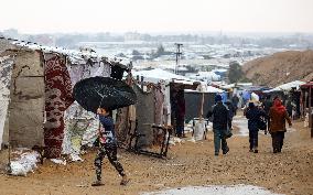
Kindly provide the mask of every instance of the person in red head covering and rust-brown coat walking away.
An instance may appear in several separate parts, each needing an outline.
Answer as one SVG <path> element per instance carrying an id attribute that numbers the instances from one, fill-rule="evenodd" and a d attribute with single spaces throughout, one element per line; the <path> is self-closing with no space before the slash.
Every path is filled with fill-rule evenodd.
<path id="1" fill-rule="evenodd" d="M 289 127 L 292 126 L 291 120 L 288 116 L 285 107 L 282 105 L 279 98 L 276 98 L 273 101 L 273 106 L 269 111 L 270 118 L 270 128 L 269 132 L 272 137 L 272 147 L 273 153 L 281 152 L 285 132 L 285 120 L 289 123 Z"/>

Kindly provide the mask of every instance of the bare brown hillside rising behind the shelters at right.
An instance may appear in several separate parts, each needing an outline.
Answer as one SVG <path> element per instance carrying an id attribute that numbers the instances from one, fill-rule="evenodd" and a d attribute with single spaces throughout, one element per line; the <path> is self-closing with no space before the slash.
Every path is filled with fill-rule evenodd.
<path id="1" fill-rule="evenodd" d="M 313 51 L 289 51 L 250 61 L 242 66 L 253 84 L 277 85 L 292 80 L 313 79 Z"/>

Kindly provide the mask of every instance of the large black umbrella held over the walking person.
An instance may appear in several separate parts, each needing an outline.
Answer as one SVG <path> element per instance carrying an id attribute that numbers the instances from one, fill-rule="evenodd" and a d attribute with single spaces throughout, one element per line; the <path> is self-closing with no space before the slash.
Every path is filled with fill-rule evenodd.
<path id="1" fill-rule="evenodd" d="M 114 110 L 136 104 L 137 96 L 131 87 L 109 77 L 90 77 L 74 86 L 75 100 L 86 110 L 97 112 L 97 108 Z"/>

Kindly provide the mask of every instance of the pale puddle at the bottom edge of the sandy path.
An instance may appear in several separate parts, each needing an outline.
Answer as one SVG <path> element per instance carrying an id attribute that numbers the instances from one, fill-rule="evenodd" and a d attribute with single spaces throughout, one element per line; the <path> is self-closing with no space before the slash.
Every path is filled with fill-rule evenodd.
<path id="1" fill-rule="evenodd" d="M 252 185 L 208 185 L 171 188 L 160 192 L 143 193 L 142 195 L 281 195 Z"/>

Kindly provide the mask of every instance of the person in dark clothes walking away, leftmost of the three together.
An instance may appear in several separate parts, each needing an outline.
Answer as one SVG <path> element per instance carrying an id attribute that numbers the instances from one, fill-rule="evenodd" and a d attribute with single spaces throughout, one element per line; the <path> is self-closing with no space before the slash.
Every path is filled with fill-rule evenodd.
<path id="1" fill-rule="evenodd" d="M 219 154 L 220 144 L 223 154 L 226 154 L 229 151 L 227 145 L 225 132 L 228 128 L 229 119 L 229 110 L 223 105 L 222 96 L 216 95 L 215 97 L 215 106 L 213 106 L 212 110 L 207 112 L 207 118 L 213 118 L 213 132 L 214 132 L 214 149 L 215 155 Z"/>

